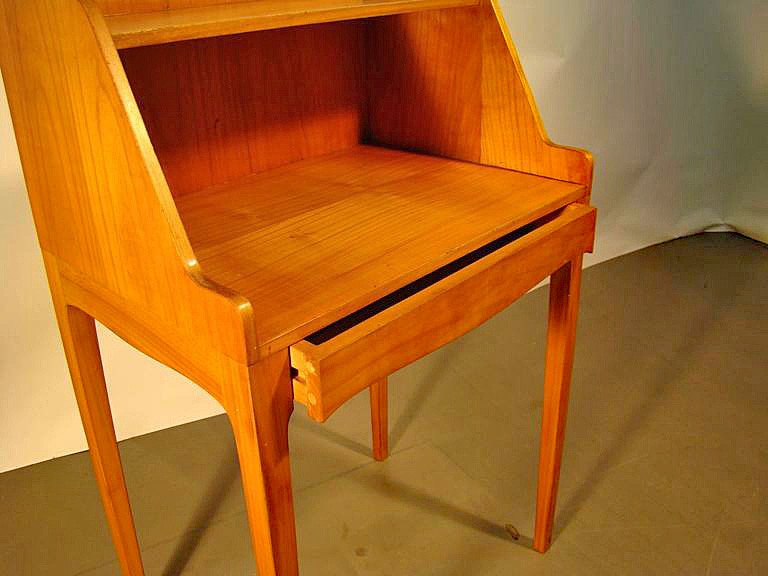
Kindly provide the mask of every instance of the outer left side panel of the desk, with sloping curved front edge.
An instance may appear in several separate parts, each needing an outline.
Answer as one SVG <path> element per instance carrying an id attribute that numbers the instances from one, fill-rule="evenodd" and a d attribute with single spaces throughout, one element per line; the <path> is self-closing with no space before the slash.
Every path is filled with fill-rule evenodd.
<path id="1" fill-rule="evenodd" d="M 43 250 L 130 315 L 209 335 L 245 360 L 250 305 L 201 276 L 103 18 L 77 0 L 0 6 L 0 65 Z"/>

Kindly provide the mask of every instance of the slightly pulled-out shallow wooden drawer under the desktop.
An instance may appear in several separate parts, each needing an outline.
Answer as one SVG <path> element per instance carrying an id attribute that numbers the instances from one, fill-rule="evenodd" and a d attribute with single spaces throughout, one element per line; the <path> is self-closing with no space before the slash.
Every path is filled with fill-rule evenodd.
<path id="1" fill-rule="evenodd" d="M 572 204 L 443 266 L 291 346 L 294 398 L 325 421 L 373 382 L 479 326 L 594 243 Z"/>

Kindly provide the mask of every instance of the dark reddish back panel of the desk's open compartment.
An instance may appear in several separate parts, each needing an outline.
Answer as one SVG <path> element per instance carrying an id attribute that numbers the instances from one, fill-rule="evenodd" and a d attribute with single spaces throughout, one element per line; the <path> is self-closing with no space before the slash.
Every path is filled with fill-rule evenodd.
<path id="1" fill-rule="evenodd" d="M 132 48 L 126 73 L 174 195 L 349 148 L 363 122 L 362 25 Z"/>

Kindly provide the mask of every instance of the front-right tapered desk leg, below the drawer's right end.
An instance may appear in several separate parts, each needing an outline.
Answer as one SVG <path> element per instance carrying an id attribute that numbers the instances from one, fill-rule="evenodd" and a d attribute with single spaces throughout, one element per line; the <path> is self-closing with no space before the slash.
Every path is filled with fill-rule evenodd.
<path id="1" fill-rule="evenodd" d="M 533 547 L 539 552 L 546 552 L 552 542 L 568 393 L 573 369 L 581 263 L 582 257 L 579 256 L 560 268 L 552 275 L 549 288 L 549 331 L 536 496 L 536 528 L 533 539 Z"/>

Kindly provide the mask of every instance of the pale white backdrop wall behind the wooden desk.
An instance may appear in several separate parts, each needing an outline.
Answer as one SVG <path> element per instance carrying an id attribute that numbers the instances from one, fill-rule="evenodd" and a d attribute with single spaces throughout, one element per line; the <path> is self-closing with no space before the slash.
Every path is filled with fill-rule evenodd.
<path id="1" fill-rule="evenodd" d="M 587 264 L 718 227 L 768 242 L 768 2 L 504 7 L 550 137 L 596 158 Z M 4 91 L 0 246 L 3 471 L 85 449 Z M 220 412 L 175 372 L 99 337 L 121 439 Z"/>

